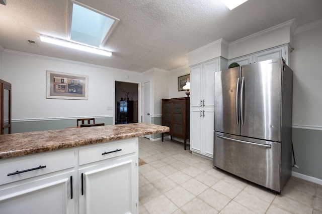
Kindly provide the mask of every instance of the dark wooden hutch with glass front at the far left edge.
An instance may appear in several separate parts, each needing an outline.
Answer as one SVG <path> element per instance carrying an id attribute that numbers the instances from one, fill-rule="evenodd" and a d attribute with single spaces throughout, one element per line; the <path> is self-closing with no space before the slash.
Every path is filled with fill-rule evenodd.
<path id="1" fill-rule="evenodd" d="M 11 83 L 0 80 L 1 134 L 11 134 Z"/>

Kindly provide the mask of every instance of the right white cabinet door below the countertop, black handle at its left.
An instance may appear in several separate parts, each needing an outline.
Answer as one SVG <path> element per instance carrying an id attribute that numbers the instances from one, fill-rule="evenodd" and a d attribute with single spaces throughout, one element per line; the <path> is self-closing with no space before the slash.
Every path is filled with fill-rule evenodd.
<path id="1" fill-rule="evenodd" d="M 135 157 L 79 170 L 79 213 L 138 213 Z"/>

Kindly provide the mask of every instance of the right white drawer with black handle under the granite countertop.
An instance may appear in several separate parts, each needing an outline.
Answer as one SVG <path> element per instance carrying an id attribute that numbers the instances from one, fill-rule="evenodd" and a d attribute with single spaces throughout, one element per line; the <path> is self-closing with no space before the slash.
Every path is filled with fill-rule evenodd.
<path id="1" fill-rule="evenodd" d="M 105 160 L 129 153 L 135 153 L 135 140 L 104 143 L 102 146 L 79 149 L 79 165 Z"/>

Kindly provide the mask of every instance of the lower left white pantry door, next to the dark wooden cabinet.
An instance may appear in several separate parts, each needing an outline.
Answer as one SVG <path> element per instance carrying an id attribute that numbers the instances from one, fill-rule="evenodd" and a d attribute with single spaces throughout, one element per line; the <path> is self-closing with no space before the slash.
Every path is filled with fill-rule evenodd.
<path id="1" fill-rule="evenodd" d="M 202 132 L 201 132 L 202 110 L 192 108 L 190 115 L 190 150 L 200 153 L 202 151 Z"/>

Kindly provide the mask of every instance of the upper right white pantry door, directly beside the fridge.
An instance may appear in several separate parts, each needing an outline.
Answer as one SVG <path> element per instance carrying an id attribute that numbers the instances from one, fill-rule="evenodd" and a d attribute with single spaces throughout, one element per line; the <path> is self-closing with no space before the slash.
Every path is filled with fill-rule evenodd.
<path id="1" fill-rule="evenodd" d="M 203 68 L 203 107 L 211 107 L 214 102 L 215 71 L 218 71 L 218 60 L 204 64 Z"/>

